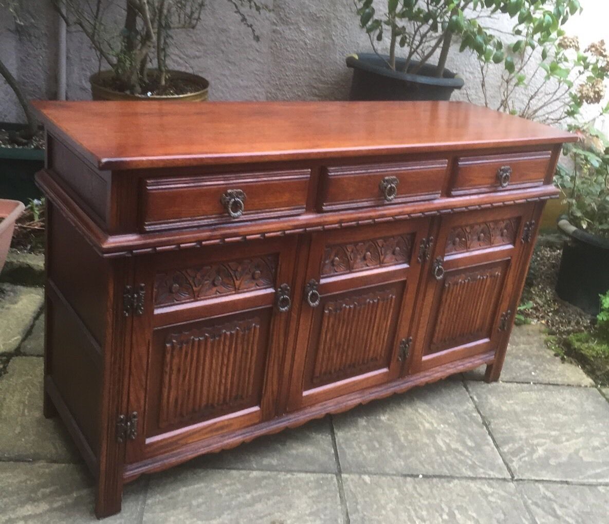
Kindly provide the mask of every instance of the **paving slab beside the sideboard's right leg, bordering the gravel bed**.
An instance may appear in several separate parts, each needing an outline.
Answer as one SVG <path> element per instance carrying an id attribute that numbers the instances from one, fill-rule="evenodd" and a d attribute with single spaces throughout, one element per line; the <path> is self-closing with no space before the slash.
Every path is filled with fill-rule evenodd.
<path id="1" fill-rule="evenodd" d="M 572 386 L 594 386 L 579 366 L 562 362 L 543 341 L 542 326 L 515 326 L 501 371 L 501 382 L 533 382 Z M 485 368 L 464 374 L 468 380 L 484 379 Z"/>

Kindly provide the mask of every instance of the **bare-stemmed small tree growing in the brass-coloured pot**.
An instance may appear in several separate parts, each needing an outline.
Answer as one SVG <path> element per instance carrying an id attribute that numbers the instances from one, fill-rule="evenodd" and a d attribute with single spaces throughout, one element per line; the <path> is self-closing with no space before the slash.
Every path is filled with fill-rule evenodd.
<path id="1" fill-rule="evenodd" d="M 148 69 L 156 58 L 158 85 L 167 82 L 167 57 L 171 35 L 177 29 L 194 29 L 199 24 L 206 0 L 124 0 L 125 22 L 122 29 L 108 23 L 107 2 L 103 0 L 51 0 L 66 24 L 79 27 L 95 51 L 108 63 L 119 88 L 141 94 L 149 82 Z M 241 22 L 258 41 L 247 10 L 268 10 L 257 0 L 225 0 L 234 7 Z"/>

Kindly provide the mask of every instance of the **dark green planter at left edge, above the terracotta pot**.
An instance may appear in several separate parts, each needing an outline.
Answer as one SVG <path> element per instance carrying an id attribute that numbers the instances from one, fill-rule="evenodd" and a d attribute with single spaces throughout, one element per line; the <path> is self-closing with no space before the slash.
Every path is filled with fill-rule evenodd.
<path id="1" fill-rule="evenodd" d="M 21 124 L 0 122 L 0 129 L 18 131 Z M 44 167 L 44 150 L 23 147 L 0 147 L 0 198 L 21 200 L 40 198 L 34 174 Z"/>

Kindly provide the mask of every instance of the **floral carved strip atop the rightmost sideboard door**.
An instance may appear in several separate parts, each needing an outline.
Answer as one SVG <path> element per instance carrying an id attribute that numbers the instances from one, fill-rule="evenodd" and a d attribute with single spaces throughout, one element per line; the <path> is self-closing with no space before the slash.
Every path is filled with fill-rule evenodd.
<path id="1" fill-rule="evenodd" d="M 518 224 L 518 218 L 508 218 L 454 228 L 446 240 L 446 254 L 475 251 L 490 246 L 513 245 Z"/>

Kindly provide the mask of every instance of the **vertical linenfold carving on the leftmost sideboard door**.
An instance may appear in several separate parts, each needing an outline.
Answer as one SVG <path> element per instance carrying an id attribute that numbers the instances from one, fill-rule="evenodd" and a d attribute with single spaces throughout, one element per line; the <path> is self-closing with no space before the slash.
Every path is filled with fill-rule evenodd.
<path id="1" fill-rule="evenodd" d="M 159 427 L 238 408 L 252 396 L 259 333 L 253 318 L 167 337 Z"/>

